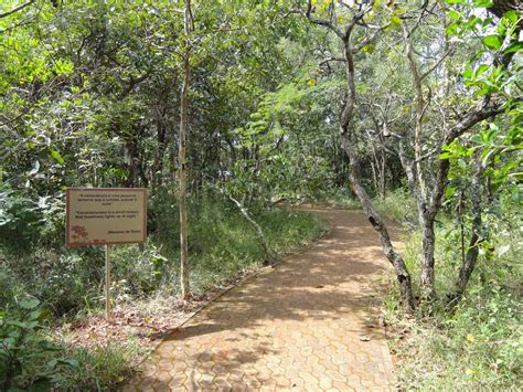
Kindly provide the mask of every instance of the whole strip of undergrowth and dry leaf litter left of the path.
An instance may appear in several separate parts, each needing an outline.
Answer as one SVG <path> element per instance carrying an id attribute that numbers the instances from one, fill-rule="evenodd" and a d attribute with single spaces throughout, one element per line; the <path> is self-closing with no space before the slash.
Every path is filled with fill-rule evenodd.
<path id="1" fill-rule="evenodd" d="M 113 247 L 115 320 L 106 322 L 103 248 L 65 248 L 60 241 L 63 216 L 56 216 L 53 227 L 41 209 L 26 211 L 20 209 L 23 204 L 12 200 L 12 224 L 2 226 L 18 234 L 1 236 L 11 242 L 2 243 L 0 253 L 0 340 L 13 345 L 0 351 L 0 390 L 110 389 L 124 380 L 160 332 L 174 328 L 173 324 L 207 300 L 210 293 L 275 262 L 328 229 L 325 221 L 307 212 L 254 206 L 250 213 L 266 235 L 271 253 L 267 255 L 236 206 L 216 199 L 191 203 L 191 306 L 179 299 L 177 200 L 168 192 L 157 193 L 149 205 L 148 241 Z M 17 219 L 28 214 L 34 218 L 33 226 L 18 231 Z M 46 235 L 53 230 L 54 235 Z M 50 237 L 56 240 L 49 242 Z M 127 326 L 129 330 L 121 333 L 124 327 L 117 326 L 121 324 L 149 327 L 148 345 L 139 336 L 143 328 Z"/>

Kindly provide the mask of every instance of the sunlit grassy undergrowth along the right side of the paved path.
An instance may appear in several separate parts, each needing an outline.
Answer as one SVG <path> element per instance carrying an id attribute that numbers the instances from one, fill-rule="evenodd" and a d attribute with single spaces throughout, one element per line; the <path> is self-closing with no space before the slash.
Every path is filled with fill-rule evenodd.
<path id="1" fill-rule="evenodd" d="M 404 254 L 415 286 L 419 282 L 421 234 L 409 219 L 408 194 L 391 192 L 378 209 L 403 226 Z M 488 244 L 467 294 L 456 307 L 455 289 L 461 264 L 461 231 L 447 211 L 437 225 L 437 287 L 440 296 L 414 316 L 402 311 L 395 276 L 387 277 L 383 315 L 402 390 L 521 390 L 523 333 L 521 222 L 519 212 L 501 198 L 495 213 L 484 214 Z M 465 227 L 465 243 L 469 231 Z M 417 289 L 417 287 L 416 287 Z"/>

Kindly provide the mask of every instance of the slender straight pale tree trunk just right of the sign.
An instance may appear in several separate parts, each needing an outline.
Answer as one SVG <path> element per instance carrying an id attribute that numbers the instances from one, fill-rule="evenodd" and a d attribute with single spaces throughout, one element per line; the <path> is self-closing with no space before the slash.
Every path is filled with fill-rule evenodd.
<path id="1" fill-rule="evenodd" d="M 184 56 L 183 56 L 183 84 L 180 100 L 180 140 L 179 140 L 179 165 L 180 165 L 180 280 L 182 299 L 189 299 L 189 264 L 188 264 L 188 210 L 186 210 L 186 125 L 189 88 L 191 85 L 191 42 L 189 35 L 192 32 L 193 21 L 191 13 L 191 0 L 185 0 L 184 12 Z"/>

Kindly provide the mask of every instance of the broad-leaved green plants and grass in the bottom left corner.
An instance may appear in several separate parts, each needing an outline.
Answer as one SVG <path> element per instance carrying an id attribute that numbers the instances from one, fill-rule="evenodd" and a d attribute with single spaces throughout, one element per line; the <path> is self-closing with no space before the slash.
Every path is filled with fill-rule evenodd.
<path id="1" fill-rule="evenodd" d="M 94 349 L 67 348 L 46 336 L 49 311 L 38 299 L 0 309 L 0 388 L 46 391 L 106 390 L 122 380 L 136 347 L 109 343 Z"/>

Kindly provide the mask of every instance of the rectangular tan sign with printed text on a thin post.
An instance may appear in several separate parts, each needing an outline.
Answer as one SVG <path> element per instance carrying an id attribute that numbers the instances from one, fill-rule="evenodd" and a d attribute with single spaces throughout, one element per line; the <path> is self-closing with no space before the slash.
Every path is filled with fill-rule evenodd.
<path id="1" fill-rule="evenodd" d="M 68 188 L 66 245 L 105 245 L 105 310 L 110 318 L 110 244 L 147 239 L 147 189 Z"/>

